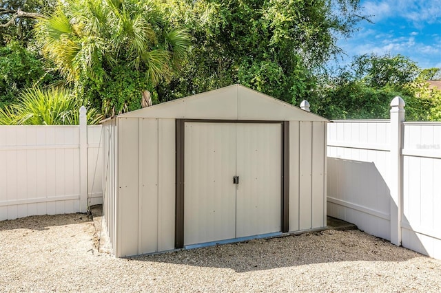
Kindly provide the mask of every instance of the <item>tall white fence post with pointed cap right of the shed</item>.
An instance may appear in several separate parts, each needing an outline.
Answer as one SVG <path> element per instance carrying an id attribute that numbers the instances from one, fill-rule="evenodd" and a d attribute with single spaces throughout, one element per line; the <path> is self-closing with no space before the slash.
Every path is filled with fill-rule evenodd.
<path id="1" fill-rule="evenodd" d="M 391 101 L 391 243 L 401 245 L 402 215 L 402 122 L 404 122 L 404 100 L 395 97 Z"/>

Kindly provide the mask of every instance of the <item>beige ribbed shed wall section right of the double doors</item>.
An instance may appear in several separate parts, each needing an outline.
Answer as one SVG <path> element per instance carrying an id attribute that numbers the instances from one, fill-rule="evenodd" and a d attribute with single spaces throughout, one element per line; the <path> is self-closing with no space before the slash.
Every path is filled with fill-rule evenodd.
<path id="1" fill-rule="evenodd" d="M 289 231 L 326 224 L 326 122 L 289 122 Z"/>

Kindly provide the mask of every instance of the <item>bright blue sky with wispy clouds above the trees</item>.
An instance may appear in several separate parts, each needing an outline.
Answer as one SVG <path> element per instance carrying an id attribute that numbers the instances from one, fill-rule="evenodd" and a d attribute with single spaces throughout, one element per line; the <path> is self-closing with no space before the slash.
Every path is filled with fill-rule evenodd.
<path id="1" fill-rule="evenodd" d="M 338 41 L 348 56 L 401 54 L 422 68 L 441 67 L 441 0 L 361 0 L 373 23 L 363 21 L 350 39 Z"/>

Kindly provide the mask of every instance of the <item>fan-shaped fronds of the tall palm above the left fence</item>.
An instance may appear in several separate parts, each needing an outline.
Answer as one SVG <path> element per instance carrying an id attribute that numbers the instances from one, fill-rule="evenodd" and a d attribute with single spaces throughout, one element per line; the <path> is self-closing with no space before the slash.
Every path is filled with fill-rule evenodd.
<path id="1" fill-rule="evenodd" d="M 70 82 L 81 83 L 86 76 L 100 84 L 114 67 L 126 65 L 155 84 L 179 69 L 190 43 L 186 30 L 168 29 L 159 3 L 63 0 L 38 21 L 37 40 Z"/>

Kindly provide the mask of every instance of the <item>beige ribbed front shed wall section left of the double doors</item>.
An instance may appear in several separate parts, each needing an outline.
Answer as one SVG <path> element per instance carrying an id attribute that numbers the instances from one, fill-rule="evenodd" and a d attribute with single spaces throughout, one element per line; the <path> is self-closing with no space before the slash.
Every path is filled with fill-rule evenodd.
<path id="1" fill-rule="evenodd" d="M 118 120 L 118 257 L 174 248 L 174 128 L 174 119 Z"/>

